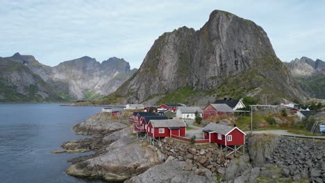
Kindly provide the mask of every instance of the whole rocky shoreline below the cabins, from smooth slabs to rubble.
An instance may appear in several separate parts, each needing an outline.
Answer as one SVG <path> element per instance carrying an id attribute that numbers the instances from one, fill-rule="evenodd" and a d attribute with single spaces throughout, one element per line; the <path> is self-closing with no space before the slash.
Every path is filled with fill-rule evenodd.
<path id="1" fill-rule="evenodd" d="M 324 142 L 258 134 L 247 138 L 245 155 L 226 159 L 215 143 L 192 145 L 167 138 L 151 146 L 136 139 L 131 123 L 100 114 L 74 130 L 96 135 L 62 146 L 66 153 L 96 151 L 69 160 L 67 174 L 77 177 L 120 182 L 325 182 Z"/>

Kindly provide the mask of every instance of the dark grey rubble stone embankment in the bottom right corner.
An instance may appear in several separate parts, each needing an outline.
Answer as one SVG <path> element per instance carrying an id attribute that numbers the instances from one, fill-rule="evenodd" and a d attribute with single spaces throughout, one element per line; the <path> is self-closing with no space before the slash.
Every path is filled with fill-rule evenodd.
<path id="1" fill-rule="evenodd" d="M 308 178 L 310 182 L 325 182 L 324 143 L 281 139 L 266 163 L 281 168 L 281 175 L 292 180 Z"/>

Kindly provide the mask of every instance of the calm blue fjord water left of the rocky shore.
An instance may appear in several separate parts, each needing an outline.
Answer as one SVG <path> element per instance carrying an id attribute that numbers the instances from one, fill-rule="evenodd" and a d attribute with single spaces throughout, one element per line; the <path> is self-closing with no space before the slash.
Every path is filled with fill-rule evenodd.
<path id="1" fill-rule="evenodd" d="M 72 127 L 100 110 L 58 103 L 0 103 L 0 182 L 90 182 L 65 173 L 71 165 L 67 159 L 87 153 L 50 152 L 60 150 L 65 141 L 85 137 L 75 135 Z"/>

